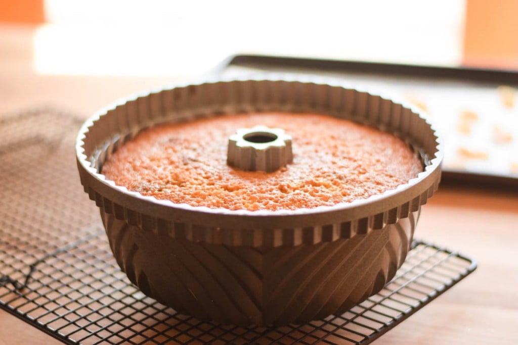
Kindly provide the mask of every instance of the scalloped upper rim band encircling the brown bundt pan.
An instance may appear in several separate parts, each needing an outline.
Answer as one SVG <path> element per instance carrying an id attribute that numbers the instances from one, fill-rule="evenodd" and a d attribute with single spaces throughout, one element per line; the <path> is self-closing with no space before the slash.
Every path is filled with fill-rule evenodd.
<path id="1" fill-rule="evenodd" d="M 355 200 L 349 203 L 339 203 L 333 206 L 277 211 L 234 211 L 226 208 L 191 206 L 188 204 L 176 204 L 171 201 L 159 200 L 154 197 L 143 196 L 135 191 L 127 190 L 125 187 L 117 186 L 113 181 L 106 179 L 104 175 L 98 173 L 97 170 L 92 167 L 85 154 L 85 138 L 89 136 L 95 124 L 106 116 L 110 110 L 114 110 L 117 106 L 122 106 L 127 102 L 139 100 L 143 97 L 150 97 L 152 94 L 166 90 L 232 82 L 301 83 L 312 85 L 312 87 L 351 89 L 358 93 L 367 93 L 369 96 L 379 96 L 381 99 L 389 100 L 393 104 L 400 104 L 403 109 L 410 110 L 414 114 L 412 116 L 416 115 L 424 120 L 429 129 L 433 131 L 435 139 L 434 157 L 430 159 L 424 171 L 419 173 L 417 177 L 410 179 L 408 183 L 399 185 L 397 188 L 387 190 L 381 194 L 373 195 L 367 199 Z M 431 197 L 437 189 L 440 181 L 443 144 L 441 137 L 437 133 L 437 129 L 429 121 L 427 115 L 408 102 L 395 100 L 393 97 L 385 97 L 378 93 L 370 93 L 363 89 L 353 87 L 346 82 L 334 79 L 313 76 L 294 76 L 293 74 L 262 74 L 261 76 L 252 78 L 218 78 L 197 83 L 178 84 L 114 102 L 110 106 L 95 113 L 83 123 L 76 140 L 76 156 L 84 189 L 90 194 L 90 198 L 96 201 L 99 207 L 108 206 L 108 208 L 112 208 L 111 211 L 114 214 L 120 214 L 118 218 L 123 217 L 130 223 L 145 225 L 146 222 L 150 222 L 149 227 L 151 230 L 156 230 L 157 221 L 168 220 L 178 223 L 190 223 L 194 226 L 202 228 L 208 227 L 218 231 L 221 229 L 295 229 L 315 226 L 325 227 L 329 224 L 336 227 L 338 223 L 339 228 L 342 229 L 338 231 L 343 232 L 343 223 L 349 223 L 349 227 L 351 228 L 355 222 L 359 221 L 359 232 L 359 228 L 379 229 L 383 227 L 383 224 L 394 223 L 397 219 L 407 217 L 409 212 L 416 211 L 419 206 L 426 203 L 426 200 Z M 122 209 L 117 210 L 116 206 L 120 206 Z M 107 209 L 107 211 L 109 212 L 110 209 Z M 155 219 L 147 219 L 149 217 Z M 182 228 L 182 231 L 185 232 L 185 227 L 179 228 Z"/>

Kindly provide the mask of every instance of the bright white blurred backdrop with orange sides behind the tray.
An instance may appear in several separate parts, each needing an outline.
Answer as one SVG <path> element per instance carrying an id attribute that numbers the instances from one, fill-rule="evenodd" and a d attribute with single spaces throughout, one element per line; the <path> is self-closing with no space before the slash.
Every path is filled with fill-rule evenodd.
<path id="1" fill-rule="evenodd" d="M 230 54 L 518 68 L 512 0 L 147 2 L 4 0 L 0 21 L 38 25 L 34 68 L 178 76 Z"/>

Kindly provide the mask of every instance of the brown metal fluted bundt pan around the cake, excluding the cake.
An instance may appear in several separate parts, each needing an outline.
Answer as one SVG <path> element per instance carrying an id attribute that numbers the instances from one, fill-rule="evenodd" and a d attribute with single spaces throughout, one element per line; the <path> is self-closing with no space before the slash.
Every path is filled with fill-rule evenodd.
<path id="1" fill-rule="evenodd" d="M 313 112 L 371 125 L 422 157 L 418 177 L 351 203 L 230 211 L 142 196 L 101 173 L 150 126 L 239 112 Z M 295 143 L 294 143 L 295 144 Z M 153 92 L 100 111 L 77 137 L 84 190 L 100 209 L 121 269 L 178 312 L 236 325 L 285 325 L 341 314 L 380 291 L 404 262 L 421 205 L 440 179 L 442 144 L 415 108 L 339 82 L 226 80 Z"/>

